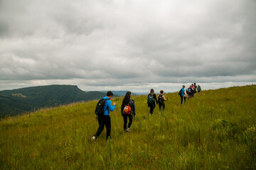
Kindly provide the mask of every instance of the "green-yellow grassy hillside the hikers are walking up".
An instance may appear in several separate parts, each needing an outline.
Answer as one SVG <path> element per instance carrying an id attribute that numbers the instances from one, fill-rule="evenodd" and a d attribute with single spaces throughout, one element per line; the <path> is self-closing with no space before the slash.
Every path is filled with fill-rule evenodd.
<path id="1" fill-rule="evenodd" d="M 256 86 L 203 91 L 149 117 L 134 96 L 137 118 L 122 130 L 114 98 L 112 142 L 96 140 L 97 101 L 43 109 L 0 121 L 0 169 L 256 169 Z"/>

